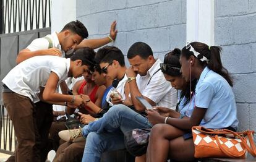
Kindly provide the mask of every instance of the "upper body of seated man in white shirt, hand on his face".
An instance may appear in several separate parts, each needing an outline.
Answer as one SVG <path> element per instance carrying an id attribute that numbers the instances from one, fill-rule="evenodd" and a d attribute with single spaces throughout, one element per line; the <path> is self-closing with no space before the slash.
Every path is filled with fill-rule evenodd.
<path id="1" fill-rule="evenodd" d="M 143 96 L 152 106 L 175 109 L 177 91 L 165 80 L 160 70 L 161 61 L 153 57 L 150 46 L 143 42 L 134 43 L 127 53 L 127 58 L 130 68 L 126 70 L 126 75 L 135 109 L 145 110 L 136 96 Z"/>

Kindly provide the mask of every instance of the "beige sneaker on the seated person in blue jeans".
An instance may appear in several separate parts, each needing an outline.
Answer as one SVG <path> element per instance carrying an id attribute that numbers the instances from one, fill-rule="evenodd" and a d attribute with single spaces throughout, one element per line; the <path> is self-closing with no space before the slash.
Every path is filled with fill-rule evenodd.
<path id="1" fill-rule="evenodd" d="M 68 129 L 59 132 L 59 137 L 67 142 L 78 142 L 83 141 L 85 138 L 82 135 L 82 129 Z"/>

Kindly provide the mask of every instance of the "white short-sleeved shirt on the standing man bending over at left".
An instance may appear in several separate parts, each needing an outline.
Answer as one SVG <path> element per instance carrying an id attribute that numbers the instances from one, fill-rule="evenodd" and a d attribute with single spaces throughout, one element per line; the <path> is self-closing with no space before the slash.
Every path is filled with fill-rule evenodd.
<path id="1" fill-rule="evenodd" d="M 4 77 L 2 82 L 15 93 L 27 96 L 33 102 L 40 87 L 45 87 L 51 71 L 59 77 L 59 83 L 67 79 L 70 59 L 58 56 L 35 56 L 22 61 Z"/>

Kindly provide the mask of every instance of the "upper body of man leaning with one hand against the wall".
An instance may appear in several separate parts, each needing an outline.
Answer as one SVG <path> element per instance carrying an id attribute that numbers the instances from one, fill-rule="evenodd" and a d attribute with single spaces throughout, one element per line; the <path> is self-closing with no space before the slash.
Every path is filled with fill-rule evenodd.
<path id="1" fill-rule="evenodd" d="M 92 49 L 99 48 L 116 39 L 116 21 L 111 24 L 109 36 L 101 39 L 90 39 L 88 37 L 87 28 L 79 20 L 67 23 L 61 32 L 53 32 L 43 38 L 37 38 L 32 41 L 27 48 L 22 49 L 17 58 L 16 63 L 24 61 L 33 56 L 54 55 L 65 56 L 70 49 L 79 49 L 90 47 Z M 85 40 L 84 40 L 85 39 Z"/>

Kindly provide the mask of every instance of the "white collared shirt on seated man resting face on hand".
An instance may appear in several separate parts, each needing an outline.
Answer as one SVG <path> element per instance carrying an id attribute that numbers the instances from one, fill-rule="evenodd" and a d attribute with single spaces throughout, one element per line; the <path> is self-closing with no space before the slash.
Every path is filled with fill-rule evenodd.
<path id="1" fill-rule="evenodd" d="M 140 93 L 156 103 L 156 106 L 175 109 L 177 104 L 177 90 L 171 87 L 161 72 L 160 59 L 148 70 L 147 75 L 137 75 L 136 82 Z M 158 71 L 158 72 L 156 72 Z"/>

